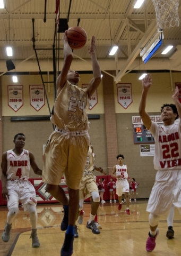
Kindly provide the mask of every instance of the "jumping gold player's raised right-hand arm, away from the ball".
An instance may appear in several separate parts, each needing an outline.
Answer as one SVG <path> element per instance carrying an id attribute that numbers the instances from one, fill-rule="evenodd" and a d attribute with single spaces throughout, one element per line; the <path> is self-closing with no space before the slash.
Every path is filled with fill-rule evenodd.
<path id="1" fill-rule="evenodd" d="M 94 91 L 96 91 L 97 87 L 101 82 L 101 70 L 96 57 L 95 50 L 96 50 L 95 36 L 92 36 L 91 45 L 89 47 L 89 53 L 91 54 L 91 59 L 92 59 L 93 78 L 91 79 L 87 89 L 89 98 L 94 93 Z"/>

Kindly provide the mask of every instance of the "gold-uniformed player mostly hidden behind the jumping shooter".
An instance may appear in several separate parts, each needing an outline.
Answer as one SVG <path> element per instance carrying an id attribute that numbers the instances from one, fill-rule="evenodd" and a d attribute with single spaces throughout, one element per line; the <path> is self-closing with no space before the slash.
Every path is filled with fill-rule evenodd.
<path id="1" fill-rule="evenodd" d="M 96 170 L 100 173 L 104 173 L 104 175 L 106 175 L 107 172 L 103 171 L 102 167 L 97 167 L 94 164 L 95 157 L 96 156 L 93 153 L 93 147 L 92 145 L 90 145 L 88 156 L 87 156 L 87 162 L 85 165 L 85 170 L 83 172 L 83 177 L 81 179 L 80 188 L 79 188 L 79 211 L 77 213 L 77 219 L 79 218 L 80 211 L 83 209 L 84 199 L 89 198 L 91 196 L 92 197 L 91 213 L 90 213 L 90 217 L 86 227 L 89 229 L 92 229 L 93 234 L 100 234 L 100 231 L 97 228 L 96 222 L 94 221 L 97 210 L 99 208 L 100 197 L 99 197 L 98 187 L 97 187 L 93 172 L 94 170 Z M 85 196 L 84 196 L 84 191 L 85 191 Z M 79 237 L 79 234 L 77 233 L 77 225 L 75 225 L 74 236 Z"/>

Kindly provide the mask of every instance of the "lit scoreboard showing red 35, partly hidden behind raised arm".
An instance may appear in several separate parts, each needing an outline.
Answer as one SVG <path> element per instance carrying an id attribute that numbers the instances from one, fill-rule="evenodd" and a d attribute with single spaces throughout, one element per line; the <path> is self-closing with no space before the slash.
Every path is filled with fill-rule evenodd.
<path id="1" fill-rule="evenodd" d="M 156 122 L 159 125 L 163 124 L 160 115 L 150 116 L 150 118 L 153 122 Z M 146 129 L 140 116 L 132 116 L 132 123 L 134 144 L 154 143 L 153 135 L 151 134 L 150 131 L 148 131 L 148 129 Z"/>

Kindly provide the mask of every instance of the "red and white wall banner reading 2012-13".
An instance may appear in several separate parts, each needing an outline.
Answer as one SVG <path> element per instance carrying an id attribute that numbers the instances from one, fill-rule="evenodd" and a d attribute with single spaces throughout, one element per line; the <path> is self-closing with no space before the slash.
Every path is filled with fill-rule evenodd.
<path id="1" fill-rule="evenodd" d="M 30 85 L 30 105 L 37 111 L 45 105 L 44 85 Z"/>

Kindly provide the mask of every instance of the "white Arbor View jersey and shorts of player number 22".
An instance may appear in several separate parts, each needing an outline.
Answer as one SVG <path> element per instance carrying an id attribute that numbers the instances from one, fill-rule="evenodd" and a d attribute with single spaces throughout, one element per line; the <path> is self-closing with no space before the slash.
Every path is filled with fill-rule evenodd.
<path id="1" fill-rule="evenodd" d="M 168 215 L 174 204 L 181 212 L 181 125 L 159 126 L 152 122 L 150 132 L 155 140 L 154 168 L 156 181 L 146 211 Z"/>

